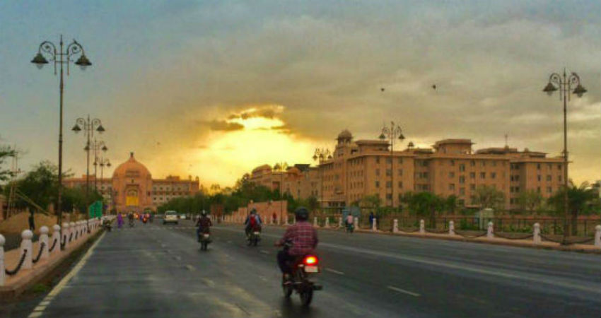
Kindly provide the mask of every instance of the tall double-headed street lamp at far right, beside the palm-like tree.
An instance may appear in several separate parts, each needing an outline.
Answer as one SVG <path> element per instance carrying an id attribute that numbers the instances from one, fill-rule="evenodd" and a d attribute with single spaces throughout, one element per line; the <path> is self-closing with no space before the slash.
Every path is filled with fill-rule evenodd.
<path id="1" fill-rule="evenodd" d="M 573 90 L 572 90 L 572 87 Z M 586 89 L 580 85 L 580 76 L 577 73 L 572 72 L 569 76 L 564 69 L 563 74 L 552 73 L 549 76 L 549 83 L 543 88 L 543 92 L 549 96 L 554 91 L 559 90 L 559 100 L 564 99 L 564 239 L 562 244 L 567 244 L 568 232 L 570 226 L 568 225 L 568 100 L 572 93 L 576 94 L 579 98 L 586 93 Z"/>

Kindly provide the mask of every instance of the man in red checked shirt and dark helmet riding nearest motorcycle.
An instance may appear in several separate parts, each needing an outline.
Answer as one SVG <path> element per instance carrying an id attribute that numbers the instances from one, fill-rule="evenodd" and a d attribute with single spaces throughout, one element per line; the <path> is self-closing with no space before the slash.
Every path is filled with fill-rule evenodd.
<path id="1" fill-rule="evenodd" d="M 306 254 L 312 254 L 313 249 L 317 247 L 317 231 L 307 220 L 309 211 L 301 206 L 294 211 L 294 215 L 296 216 L 296 224 L 289 226 L 284 233 L 284 237 L 275 244 L 275 246 L 283 246 L 286 241 L 292 243 L 290 249 L 281 250 L 277 256 L 279 268 L 281 273 L 284 274 L 284 280 L 288 280 L 291 273 L 290 263 Z"/>

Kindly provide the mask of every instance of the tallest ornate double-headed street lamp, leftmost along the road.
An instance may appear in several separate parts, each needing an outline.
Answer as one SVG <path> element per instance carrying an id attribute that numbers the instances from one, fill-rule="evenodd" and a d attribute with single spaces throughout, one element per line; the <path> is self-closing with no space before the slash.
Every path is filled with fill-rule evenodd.
<path id="1" fill-rule="evenodd" d="M 91 66 L 92 63 L 86 57 L 86 54 L 83 52 L 83 47 L 76 41 L 73 40 L 71 44 L 66 46 L 64 49 L 63 45 L 63 36 L 60 37 L 59 49 L 57 50 L 57 46 L 54 43 L 49 41 L 44 41 L 40 44 L 40 47 L 37 49 L 37 54 L 31 60 L 33 64 L 37 66 L 38 69 L 41 69 L 44 64 L 48 64 L 48 59 L 44 57 L 46 55 L 49 57 L 49 61 L 54 63 L 54 75 L 57 73 L 57 64 L 60 69 L 60 82 L 59 82 L 59 189 L 57 194 L 57 218 L 58 223 L 62 224 L 62 206 L 61 206 L 61 197 L 62 197 L 62 187 L 63 187 L 63 65 L 66 64 L 66 75 L 69 76 L 69 63 L 73 62 L 75 57 L 79 57 L 77 61 L 74 63 L 81 67 L 81 69 L 86 69 L 87 66 Z M 43 53 L 43 54 L 42 54 Z"/>

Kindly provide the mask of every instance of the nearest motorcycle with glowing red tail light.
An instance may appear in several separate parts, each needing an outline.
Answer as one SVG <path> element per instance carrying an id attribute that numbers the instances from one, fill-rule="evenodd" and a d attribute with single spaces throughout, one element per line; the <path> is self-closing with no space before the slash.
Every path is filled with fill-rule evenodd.
<path id="1" fill-rule="evenodd" d="M 291 242 L 284 244 L 284 250 L 291 247 Z M 291 266 L 292 273 L 288 279 L 282 278 L 281 287 L 285 298 L 290 298 L 296 291 L 301 298 L 303 306 L 310 305 L 313 300 L 313 291 L 322 290 L 323 286 L 313 283 L 310 277 L 320 273 L 319 259 L 313 254 L 307 254 L 297 259 Z"/>

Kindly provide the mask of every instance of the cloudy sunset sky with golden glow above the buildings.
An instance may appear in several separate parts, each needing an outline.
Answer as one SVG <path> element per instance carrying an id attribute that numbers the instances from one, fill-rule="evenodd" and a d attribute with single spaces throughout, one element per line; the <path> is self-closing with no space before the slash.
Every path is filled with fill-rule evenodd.
<path id="1" fill-rule="evenodd" d="M 547 0 L 0 1 L 0 143 L 24 151 L 25 170 L 57 162 L 58 77 L 30 60 L 60 34 L 93 63 L 66 77 L 65 167 L 85 172 L 70 129 L 90 114 L 115 165 L 134 151 L 153 177 L 205 186 L 311 163 L 339 131 L 374 139 L 391 119 L 406 143 L 477 149 L 508 134 L 556 156 L 562 104 L 541 90 L 565 66 L 588 89 L 568 106 L 571 177 L 595 181 L 600 12 L 600 1 Z"/>

